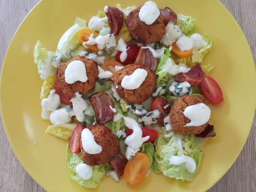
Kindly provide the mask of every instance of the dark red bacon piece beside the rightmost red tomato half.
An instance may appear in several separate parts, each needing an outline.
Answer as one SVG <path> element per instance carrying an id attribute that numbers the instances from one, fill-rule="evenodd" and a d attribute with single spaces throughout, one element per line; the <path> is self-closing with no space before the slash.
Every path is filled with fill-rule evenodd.
<path id="1" fill-rule="evenodd" d="M 178 73 L 175 76 L 175 81 L 177 82 L 184 82 L 187 81 L 191 85 L 191 87 L 197 86 L 201 83 L 201 81 L 204 79 L 204 72 L 197 63 L 197 65 L 191 67 L 191 69 L 186 73 Z"/>

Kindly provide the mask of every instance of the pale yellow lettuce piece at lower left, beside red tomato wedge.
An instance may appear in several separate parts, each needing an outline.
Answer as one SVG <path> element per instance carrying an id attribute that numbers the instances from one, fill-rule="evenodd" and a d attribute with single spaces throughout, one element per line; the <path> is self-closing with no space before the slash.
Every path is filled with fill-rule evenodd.
<path id="1" fill-rule="evenodd" d="M 48 126 L 45 133 L 68 140 L 77 124 L 61 124 Z"/>

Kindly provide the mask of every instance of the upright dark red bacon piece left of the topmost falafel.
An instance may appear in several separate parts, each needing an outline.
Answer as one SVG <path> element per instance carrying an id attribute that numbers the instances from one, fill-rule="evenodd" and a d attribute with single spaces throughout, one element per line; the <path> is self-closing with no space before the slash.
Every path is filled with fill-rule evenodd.
<path id="1" fill-rule="evenodd" d="M 117 7 L 108 6 L 108 12 L 106 12 L 106 16 L 108 17 L 110 33 L 118 35 L 124 22 L 124 12 L 117 9 Z"/>

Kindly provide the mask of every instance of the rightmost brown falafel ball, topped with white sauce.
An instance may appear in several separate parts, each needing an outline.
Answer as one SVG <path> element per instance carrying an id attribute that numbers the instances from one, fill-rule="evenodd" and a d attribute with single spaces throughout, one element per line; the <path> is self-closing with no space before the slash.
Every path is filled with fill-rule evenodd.
<path id="1" fill-rule="evenodd" d="M 207 127 L 208 122 L 201 126 L 187 126 L 184 127 L 187 123 L 190 122 L 189 118 L 184 116 L 183 112 L 189 105 L 195 105 L 197 103 L 204 103 L 206 101 L 201 97 L 195 97 L 191 95 L 185 95 L 181 98 L 178 98 L 171 107 L 170 111 L 170 122 L 174 133 L 181 135 L 195 135 L 204 131 Z"/>

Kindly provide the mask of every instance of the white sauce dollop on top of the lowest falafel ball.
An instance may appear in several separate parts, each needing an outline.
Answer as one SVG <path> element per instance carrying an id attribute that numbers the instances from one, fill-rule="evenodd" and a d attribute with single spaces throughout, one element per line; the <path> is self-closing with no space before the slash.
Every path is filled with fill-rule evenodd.
<path id="1" fill-rule="evenodd" d="M 83 129 L 81 133 L 81 140 L 83 150 L 85 150 L 86 153 L 98 154 L 102 151 L 102 147 L 95 142 L 93 133 L 90 129 Z"/>

